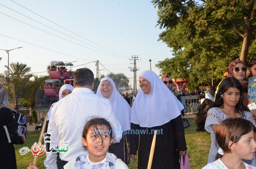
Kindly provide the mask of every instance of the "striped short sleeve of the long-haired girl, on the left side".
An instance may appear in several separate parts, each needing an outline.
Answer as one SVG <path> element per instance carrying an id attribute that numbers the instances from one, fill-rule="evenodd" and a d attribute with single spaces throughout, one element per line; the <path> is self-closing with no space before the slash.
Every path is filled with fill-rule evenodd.
<path id="1" fill-rule="evenodd" d="M 220 115 L 217 111 L 217 108 L 210 108 L 207 112 L 204 129 L 207 132 L 213 133 L 212 124 L 220 124 L 220 121 Z"/>

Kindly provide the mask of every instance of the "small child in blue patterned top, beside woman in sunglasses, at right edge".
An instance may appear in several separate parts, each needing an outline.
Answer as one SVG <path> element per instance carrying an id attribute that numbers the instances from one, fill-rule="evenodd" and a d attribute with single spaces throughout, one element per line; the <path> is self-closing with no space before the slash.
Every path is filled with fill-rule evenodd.
<path id="1" fill-rule="evenodd" d="M 250 71 L 250 77 L 248 79 L 248 100 L 250 104 L 256 103 L 256 57 L 250 60 L 248 67 Z"/>

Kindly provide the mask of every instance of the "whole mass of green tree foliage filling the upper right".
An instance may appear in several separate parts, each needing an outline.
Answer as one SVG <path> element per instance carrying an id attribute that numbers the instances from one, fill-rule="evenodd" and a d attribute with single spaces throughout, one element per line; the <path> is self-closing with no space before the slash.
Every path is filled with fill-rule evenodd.
<path id="1" fill-rule="evenodd" d="M 156 64 L 162 75 L 190 77 L 190 84 L 217 84 L 234 59 L 256 54 L 255 0 L 152 0 L 158 8 L 157 25 L 165 29 L 159 40 L 173 57 Z M 250 20 L 250 21 L 248 21 Z M 251 33 L 251 36 L 248 36 Z M 248 42 L 245 39 L 248 38 Z M 245 46 L 244 44 L 247 44 Z"/>

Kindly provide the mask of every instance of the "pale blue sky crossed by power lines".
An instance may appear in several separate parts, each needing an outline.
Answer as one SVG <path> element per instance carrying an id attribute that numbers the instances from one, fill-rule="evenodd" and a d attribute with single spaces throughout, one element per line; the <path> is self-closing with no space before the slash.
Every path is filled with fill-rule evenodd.
<path id="1" fill-rule="evenodd" d="M 10 51 L 9 63 L 16 61 L 26 63 L 32 68 L 31 72 L 36 75 L 46 75 L 46 73 L 37 72 L 46 71 L 47 65 L 52 60 L 56 60 L 67 62 L 77 61 L 73 63 L 74 66 L 81 66 L 74 67 L 73 70 L 88 67 L 94 72 L 96 77 L 95 63 L 82 64 L 99 60 L 100 63 L 106 67 L 105 69 L 102 65 L 99 66 L 99 69 L 104 69 L 100 71 L 100 74 L 106 75 L 111 71 L 113 73 L 124 73 L 127 77 L 133 77 L 133 72 L 128 69 L 130 66 L 133 67 L 133 65 L 130 64 L 132 61 L 129 60 L 132 55 L 138 55 L 138 57 L 141 58 L 141 60 L 137 61 L 137 67 L 140 68 L 137 75 L 144 70 L 150 69 L 149 59 L 152 60 L 152 71 L 159 75 L 159 70 L 155 67 L 155 64 L 167 57 L 172 57 L 171 49 L 168 48 L 165 43 L 157 41 L 158 35 L 162 30 L 160 30 L 159 27 L 155 27 L 157 10 L 150 0 L 13 1 L 81 36 L 56 26 L 11 0 L 0 0 L 0 20 L 2 23 L 0 26 L 0 49 L 9 50 L 22 46 L 23 48 Z M 47 28 L 3 5 L 78 40 Z M 14 20 L 13 18 L 25 22 L 26 24 Z M 28 26 L 27 24 L 69 41 Z M 25 42 L 53 51 L 36 47 Z M 4 67 L 4 65 L 8 64 L 7 53 L 0 50 L 0 57 L 2 57 L 0 61 L 0 73 L 3 73 L 3 71 L 7 70 Z"/>

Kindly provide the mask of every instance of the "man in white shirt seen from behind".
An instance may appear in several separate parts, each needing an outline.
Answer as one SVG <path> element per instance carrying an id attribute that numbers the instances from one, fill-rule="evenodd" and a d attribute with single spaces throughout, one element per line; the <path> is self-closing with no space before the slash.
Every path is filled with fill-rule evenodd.
<path id="1" fill-rule="evenodd" d="M 82 131 L 85 123 L 94 117 L 105 118 L 112 124 L 113 130 L 119 131 L 121 126 L 114 115 L 108 99 L 94 94 L 94 75 L 90 69 L 77 69 L 74 73 L 74 90 L 68 96 L 59 100 L 52 108 L 47 134 L 50 134 L 50 148 L 68 151 L 46 152 L 44 166 L 47 169 L 60 169 L 73 157 L 84 154 L 86 149 L 82 144 Z M 114 132 L 113 131 L 113 132 Z M 121 134 L 115 134 L 114 142 L 119 142 Z"/>

